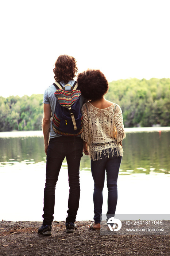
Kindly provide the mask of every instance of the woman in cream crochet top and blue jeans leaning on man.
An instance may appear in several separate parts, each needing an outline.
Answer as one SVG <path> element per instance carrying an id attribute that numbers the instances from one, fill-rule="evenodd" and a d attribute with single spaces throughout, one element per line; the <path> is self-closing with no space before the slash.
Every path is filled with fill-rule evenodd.
<path id="1" fill-rule="evenodd" d="M 100 70 L 88 69 L 78 75 L 82 95 L 89 102 L 82 107 L 84 140 L 83 152 L 91 158 L 94 180 L 94 222 L 91 229 L 100 229 L 105 171 L 108 187 L 108 216 L 114 216 L 117 204 L 117 177 L 123 156 L 125 138 L 120 106 L 107 101 L 108 81 Z"/>

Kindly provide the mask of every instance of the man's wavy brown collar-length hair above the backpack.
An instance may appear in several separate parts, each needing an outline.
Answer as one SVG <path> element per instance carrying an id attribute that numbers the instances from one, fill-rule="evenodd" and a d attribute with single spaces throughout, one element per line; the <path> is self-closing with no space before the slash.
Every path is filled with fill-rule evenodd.
<path id="1" fill-rule="evenodd" d="M 68 83 L 69 80 L 74 80 L 78 68 L 76 66 L 76 60 L 69 55 L 60 55 L 55 62 L 55 68 L 53 72 L 55 74 L 54 79 L 56 82 L 64 81 Z"/>

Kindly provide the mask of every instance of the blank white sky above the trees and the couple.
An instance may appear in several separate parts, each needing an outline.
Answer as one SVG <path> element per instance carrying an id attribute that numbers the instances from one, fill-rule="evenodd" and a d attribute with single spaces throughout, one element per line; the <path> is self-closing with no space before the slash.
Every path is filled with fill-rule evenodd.
<path id="1" fill-rule="evenodd" d="M 60 54 L 109 82 L 170 77 L 170 0 L 0 2 L 0 96 L 43 94 Z"/>

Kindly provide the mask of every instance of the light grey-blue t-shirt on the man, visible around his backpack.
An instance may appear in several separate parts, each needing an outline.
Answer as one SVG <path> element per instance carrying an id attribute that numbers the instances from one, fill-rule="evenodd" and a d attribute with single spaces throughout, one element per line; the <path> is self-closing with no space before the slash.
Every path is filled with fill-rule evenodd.
<path id="1" fill-rule="evenodd" d="M 73 86 L 74 84 L 74 80 L 70 80 L 68 83 Z M 60 82 L 62 84 L 62 86 L 65 86 L 66 83 L 64 82 Z M 66 90 L 69 90 L 69 86 L 66 87 Z M 56 97 L 54 96 L 54 93 L 56 91 L 56 87 L 51 84 L 49 87 L 47 87 L 47 89 L 45 90 L 44 92 L 44 97 L 43 97 L 43 103 L 45 104 L 50 104 L 51 106 L 51 112 L 52 112 L 52 116 L 54 116 L 54 112 L 55 112 L 55 106 L 56 106 L 56 102 L 57 102 L 57 99 Z M 81 95 L 81 98 L 80 98 L 80 107 L 82 107 L 82 104 L 84 103 L 84 97 Z M 55 137 L 59 137 L 59 136 L 62 136 L 62 135 L 59 135 L 57 133 L 54 132 L 53 130 L 53 126 L 52 126 L 52 119 L 51 118 L 51 125 L 50 125 L 50 139 L 53 139 Z M 78 135 L 78 136 L 81 136 L 81 135 Z"/>

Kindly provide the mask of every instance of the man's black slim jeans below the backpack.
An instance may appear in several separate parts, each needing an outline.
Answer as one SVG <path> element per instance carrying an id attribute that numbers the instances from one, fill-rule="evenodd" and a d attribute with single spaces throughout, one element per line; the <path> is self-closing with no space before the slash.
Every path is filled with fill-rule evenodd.
<path id="1" fill-rule="evenodd" d="M 54 217 L 55 185 L 66 157 L 69 174 L 69 200 L 66 222 L 75 222 L 80 199 L 79 169 L 83 142 L 81 137 L 60 136 L 50 139 L 47 151 L 46 184 L 44 189 L 43 225 L 51 225 Z M 67 178 L 63 184 L 67 182 Z M 62 196 L 62 195 L 58 195 Z M 60 208 L 60 207 L 59 207 Z"/>

